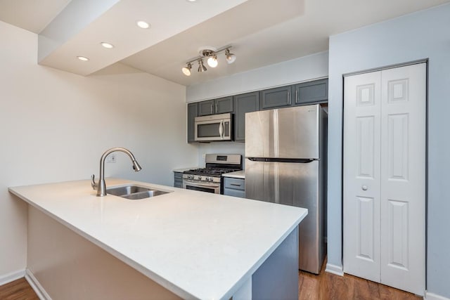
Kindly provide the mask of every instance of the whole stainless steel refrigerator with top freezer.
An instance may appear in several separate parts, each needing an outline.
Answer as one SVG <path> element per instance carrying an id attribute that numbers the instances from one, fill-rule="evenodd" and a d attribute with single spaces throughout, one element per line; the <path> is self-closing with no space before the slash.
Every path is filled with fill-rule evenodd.
<path id="1" fill-rule="evenodd" d="M 326 131 L 320 105 L 245 114 L 245 197 L 308 209 L 299 268 L 316 274 L 326 255 Z"/>

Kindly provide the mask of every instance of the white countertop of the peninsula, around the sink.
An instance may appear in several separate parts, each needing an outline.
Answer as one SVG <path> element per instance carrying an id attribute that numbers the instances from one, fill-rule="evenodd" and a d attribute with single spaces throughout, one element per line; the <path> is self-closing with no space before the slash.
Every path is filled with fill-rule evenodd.
<path id="1" fill-rule="evenodd" d="M 307 209 L 107 178 L 174 191 L 96 197 L 89 180 L 9 188 L 33 207 L 182 298 L 230 299 Z"/>

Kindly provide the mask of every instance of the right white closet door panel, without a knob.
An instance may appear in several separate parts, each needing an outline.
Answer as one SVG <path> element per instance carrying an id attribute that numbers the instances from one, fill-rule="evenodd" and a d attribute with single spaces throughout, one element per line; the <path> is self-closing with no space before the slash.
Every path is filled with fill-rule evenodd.
<path id="1" fill-rule="evenodd" d="M 381 77 L 381 283 L 423 295 L 426 65 Z"/>

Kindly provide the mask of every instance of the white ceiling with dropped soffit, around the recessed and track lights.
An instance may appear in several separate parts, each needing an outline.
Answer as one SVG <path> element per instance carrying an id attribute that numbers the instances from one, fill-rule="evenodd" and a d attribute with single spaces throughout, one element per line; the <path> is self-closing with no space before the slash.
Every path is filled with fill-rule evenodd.
<path id="1" fill-rule="evenodd" d="M 62 31 L 73 20 L 84 19 L 86 24 L 80 23 L 79 30 L 59 32 L 68 36 L 65 39 L 51 37 L 54 49 L 39 63 L 89 75 L 120 62 L 188 86 L 326 51 L 330 35 L 449 1 L 110 0 L 110 7 L 89 19 L 87 8 L 73 9 L 81 0 L 0 0 L 0 20 L 48 38 L 47 32 Z M 58 14 L 63 20 L 56 22 Z M 150 22 L 150 29 L 134 25 L 141 19 Z M 64 20 L 67 24 L 61 26 Z M 101 41 L 115 48 L 103 49 Z M 181 73 L 200 47 L 226 45 L 232 45 L 237 56 L 232 65 L 220 53 L 217 68 L 206 65 L 207 72 L 198 73 L 195 63 L 190 77 Z M 89 62 L 78 61 L 80 55 L 89 57 Z"/>

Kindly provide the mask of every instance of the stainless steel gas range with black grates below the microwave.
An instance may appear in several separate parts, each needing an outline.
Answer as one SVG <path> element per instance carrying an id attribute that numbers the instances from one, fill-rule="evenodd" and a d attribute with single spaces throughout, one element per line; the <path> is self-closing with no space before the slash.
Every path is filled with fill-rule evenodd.
<path id="1" fill-rule="evenodd" d="M 205 168 L 183 172 L 183 187 L 219 194 L 223 191 L 221 175 L 239 170 L 242 170 L 242 155 L 207 154 Z"/>

